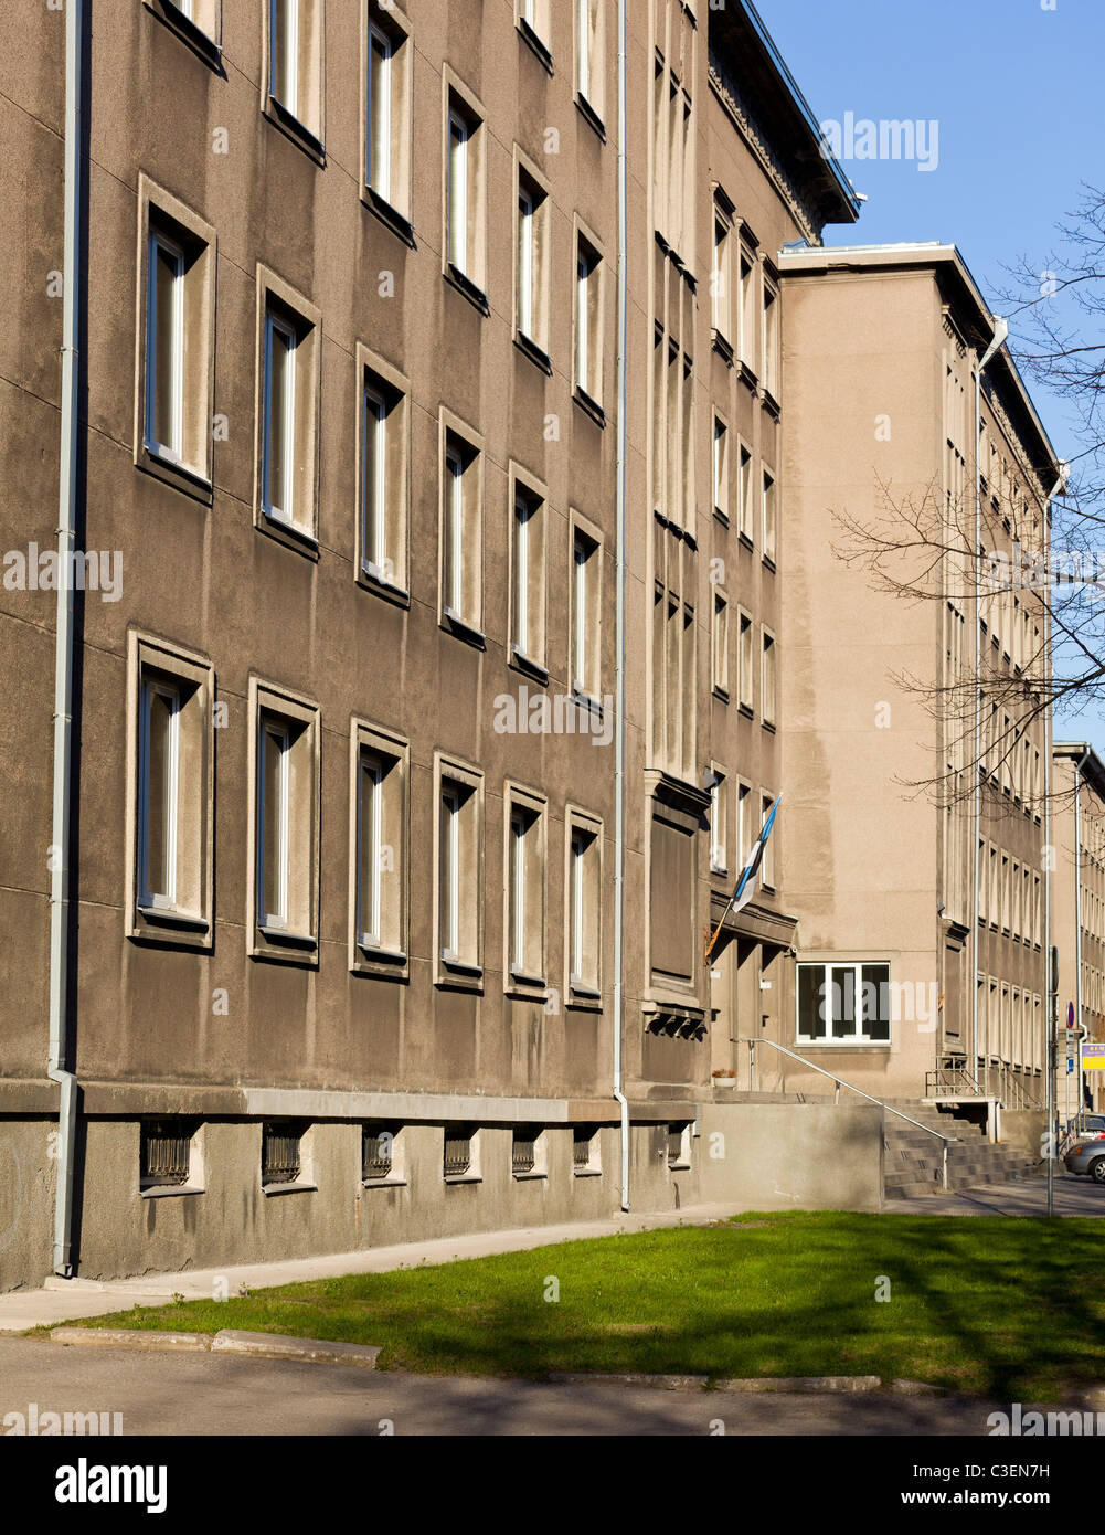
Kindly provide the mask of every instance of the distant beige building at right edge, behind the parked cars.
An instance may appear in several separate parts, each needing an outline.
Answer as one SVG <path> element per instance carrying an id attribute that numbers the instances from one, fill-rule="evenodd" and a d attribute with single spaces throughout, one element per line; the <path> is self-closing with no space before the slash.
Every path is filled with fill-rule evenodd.
<path id="1" fill-rule="evenodd" d="M 1059 950 L 1059 1027 L 1073 1021 L 1071 1041 L 1105 1039 L 1105 764 L 1085 741 L 1051 748 L 1051 846 L 1054 847 L 1054 924 Z M 1102 1108 L 1099 1071 L 1079 1087 L 1077 1061 L 1057 1081 L 1060 1114 Z M 1084 1091 L 1080 1101 L 1079 1093 Z"/>

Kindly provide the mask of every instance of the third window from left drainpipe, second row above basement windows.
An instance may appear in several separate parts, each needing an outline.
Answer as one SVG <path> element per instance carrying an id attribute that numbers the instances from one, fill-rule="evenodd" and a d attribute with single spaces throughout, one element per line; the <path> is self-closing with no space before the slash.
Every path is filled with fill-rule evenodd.
<path id="1" fill-rule="evenodd" d="M 361 574 L 368 582 L 405 591 L 408 394 L 373 367 L 365 365 L 362 378 Z"/>

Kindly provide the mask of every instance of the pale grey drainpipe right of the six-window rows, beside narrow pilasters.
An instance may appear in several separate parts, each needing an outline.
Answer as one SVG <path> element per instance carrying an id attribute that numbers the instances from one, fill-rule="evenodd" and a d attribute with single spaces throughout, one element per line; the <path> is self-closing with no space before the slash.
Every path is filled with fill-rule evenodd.
<path id="1" fill-rule="evenodd" d="M 629 1099 L 623 1090 L 623 1013 L 625 1013 L 625 748 L 626 748 L 626 338 L 629 315 L 628 287 L 629 236 L 629 161 L 626 150 L 626 0 L 618 0 L 618 262 L 617 262 L 617 634 L 615 634 L 615 712 L 614 734 L 614 1098 L 622 1110 L 622 1208 L 629 1210 Z"/>

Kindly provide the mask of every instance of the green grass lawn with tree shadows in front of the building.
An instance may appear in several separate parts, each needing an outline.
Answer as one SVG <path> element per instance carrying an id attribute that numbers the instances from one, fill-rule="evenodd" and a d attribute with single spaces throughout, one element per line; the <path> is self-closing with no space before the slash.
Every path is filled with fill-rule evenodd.
<path id="1" fill-rule="evenodd" d="M 382 1368 L 425 1372 L 884 1375 L 1054 1400 L 1105 1382 L 1103 1236 L 1097 1220 L 749 1214 L 84 1325 L 378 1343 Z"/>

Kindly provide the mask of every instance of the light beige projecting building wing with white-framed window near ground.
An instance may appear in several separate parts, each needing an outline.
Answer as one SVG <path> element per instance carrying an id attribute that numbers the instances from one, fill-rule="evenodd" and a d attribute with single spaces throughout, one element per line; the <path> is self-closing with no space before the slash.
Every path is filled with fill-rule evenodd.
<path id="1" fill-rule="evenodd" d="M 1037 593 L 996 573 L 1018 543 L 1047 556 L 1056 456 L 953 246 L 793 250 L 781 269 L 783 1042 L 879 1098 L 1036 1108 L 1048 635 Z"/>

